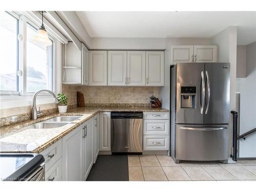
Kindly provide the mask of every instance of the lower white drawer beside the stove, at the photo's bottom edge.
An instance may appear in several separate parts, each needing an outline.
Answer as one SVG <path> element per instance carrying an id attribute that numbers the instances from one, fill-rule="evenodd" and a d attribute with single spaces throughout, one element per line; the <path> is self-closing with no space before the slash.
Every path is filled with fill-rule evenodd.
<path id="1" fill-rule="evenodd" d="M 46 172 L 46 181 L 61 181 L 61 158 L 54 163 Z"/>

